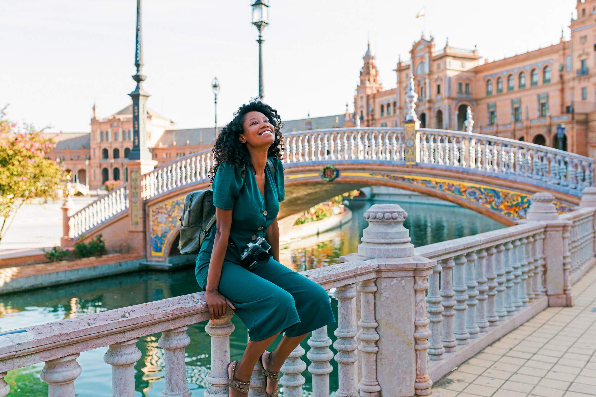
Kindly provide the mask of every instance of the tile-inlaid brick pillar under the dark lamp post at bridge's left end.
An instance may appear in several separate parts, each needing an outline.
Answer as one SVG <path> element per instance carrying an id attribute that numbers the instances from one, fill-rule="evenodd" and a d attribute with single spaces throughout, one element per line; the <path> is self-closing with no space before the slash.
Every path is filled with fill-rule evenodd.
<path id="1" fill-rule="evenodd" d="M 142 176 L 153 170 L 155 160 L 136 160 L 128 163 L 128 243 L 131 253 L 145 253 L 145 204 L 142 194 Z"/>

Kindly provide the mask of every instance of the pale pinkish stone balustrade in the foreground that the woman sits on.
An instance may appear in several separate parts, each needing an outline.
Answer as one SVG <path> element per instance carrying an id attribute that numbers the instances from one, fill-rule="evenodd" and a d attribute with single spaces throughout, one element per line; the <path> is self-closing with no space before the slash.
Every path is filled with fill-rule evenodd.
<path id="1" fill-rule="evenodd" d="M 579 209 L 563 216 L 552 200 L 534 194 L 527 220 L 512 227 L 417 248 L 403 227 L 405 211 L 374 204 L 365 212 L 369 225 L 358 252 L 302 272 L 338 300 L 337 329 L 333 335 L 327 327 L 313 331 L 309 351 L 298 346 L 290 354 L 281 368 L 284 396 L 303 395 L 305 370 L 313 396 L 430 395 L 433 381 L 548 305 L 571 305 L 574 276 L 576 281 L 595 262 L 596 189 L 586 188 Z M 212 341 L 206 396 L 227 394 L 232 315 L 206 326 Z M 39 362 L 45 362 L 41 377 L 49 396 L 75 396 L 74 380 L 85 370 L 77 356 L 102 346 L 108 346 L 104 361 L 112 367 L 113 395 L 132 395 L 140 356 L 135 343 L 157 332 L 163 395 L 190 396 L 187 329 L 207 320 L 204 293 L 194 293 L 0 336 L 0 397 L 8 393 L 7 371 Z M 330 390 L 333 359 L 338 390 Z M 263 395 L 257 370 L 249 395 Z"/>

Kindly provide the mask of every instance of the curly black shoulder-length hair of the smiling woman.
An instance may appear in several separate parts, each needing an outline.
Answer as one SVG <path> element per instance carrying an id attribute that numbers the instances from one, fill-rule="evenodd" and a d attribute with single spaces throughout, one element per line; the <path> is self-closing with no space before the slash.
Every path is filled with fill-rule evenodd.
<path id="1" fill-rule="evenodd" d="M 242 170 L 242 175 L 250 166 L 249 150 L 246 144 L 240 143 L 238 136 L 244 132 L 242 123 L 244 116 L 250 111 L 260 111 L 265 114 L 275 131 L 275 141 L 269 146 L 267 156 L 274 156 L 281 159 L 281 152 L 284 151 L 284 143 L 281 139 L 281 128 L 284 123 L 277 114 L 277 110 L 262 103 L 259 98 L 253 98 L 249 103 L 243 104 L 234 112 L 234 119 L 228 123 L 219 133 L 218 138 L 213 145 L 213 170 L 209 172 L 209 178 L 213 181 L 218 167 L 222 162 L 226 162 Z"/>

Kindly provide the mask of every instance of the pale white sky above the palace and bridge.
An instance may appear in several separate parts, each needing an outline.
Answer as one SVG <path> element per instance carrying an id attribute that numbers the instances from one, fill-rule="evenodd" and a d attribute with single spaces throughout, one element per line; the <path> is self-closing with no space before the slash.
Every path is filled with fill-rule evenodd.
<path id="1" fill-rule="evenodd" d="M 135 0 L 0 0 L 0 108 L 46 131 L 88 132 L 135 88 Z M 178 128 L 218 124 L 258 94 L 251 1 L 143 0 L 148 106 Z M 473 48 L 488 60 L 569 38 L 576 0 L 270 0 L 263 32 L 264 101 L 283 119 L 353 110 L 367 38 L 383 87 L 396 85 L 426 26 L 436 49 Z M 415 18 L 424 7 L 426 17 Z M 426 19 L 426 21 L 424 21 Z"/>

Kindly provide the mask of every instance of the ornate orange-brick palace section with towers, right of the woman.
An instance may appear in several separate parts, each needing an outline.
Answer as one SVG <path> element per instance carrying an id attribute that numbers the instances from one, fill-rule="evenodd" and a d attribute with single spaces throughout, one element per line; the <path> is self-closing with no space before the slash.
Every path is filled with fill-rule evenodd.
<path id="1" fill-rule="evenodd" d="M 397 88 L 384 90 L 370 46 L 354 97 L 362 126 L 403 126 L 409 76 L 418 94 L 421 128 L 464 130 L 471 107 L 474 132 L 559 147 L 557 125 L 565 128 L 564 150 L 595 157 L 596 0 L 578 0 L 571 38 L 493 62 L 478 49 L 463 49 L 422 36 L 409 61 L 395 69 Z M 561 32 L 562 33 L 562 32 Z"/>

